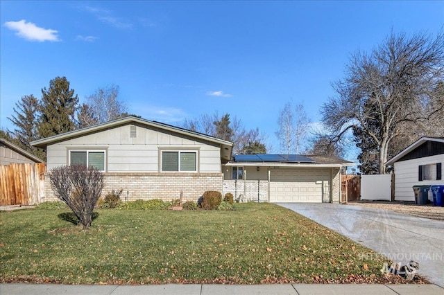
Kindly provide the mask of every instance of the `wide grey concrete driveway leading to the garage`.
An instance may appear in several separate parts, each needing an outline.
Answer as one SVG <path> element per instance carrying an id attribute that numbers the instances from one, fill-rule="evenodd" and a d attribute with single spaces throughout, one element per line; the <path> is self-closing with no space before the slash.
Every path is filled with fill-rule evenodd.
<path id="1" fill-rule="evenodd" d="M 361 206 L 278 205 L 341 233 L 393 262 L 407 265 L 415 260 L 420 265 L 418 274 L 444 287 L 444 222 Z M 368 255 L 371 257 L 372 253 Z"/>

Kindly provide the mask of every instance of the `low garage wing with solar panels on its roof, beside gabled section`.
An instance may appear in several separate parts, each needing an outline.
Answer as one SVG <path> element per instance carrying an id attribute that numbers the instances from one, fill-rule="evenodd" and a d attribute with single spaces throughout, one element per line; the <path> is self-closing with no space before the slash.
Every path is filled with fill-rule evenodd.
<path id="1" fill-rule="evenodd" d="M 342 168 L 352 165 L 336 157 L 235 155 L 223 165 L 223 193 L 248 201 L 339 203 Z"/>

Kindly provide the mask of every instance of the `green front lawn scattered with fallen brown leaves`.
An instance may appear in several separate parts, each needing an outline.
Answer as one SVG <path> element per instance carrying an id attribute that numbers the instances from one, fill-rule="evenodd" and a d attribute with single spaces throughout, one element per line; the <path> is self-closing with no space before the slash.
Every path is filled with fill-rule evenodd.
<path id="1" fill-rule="evenodd" d="M 67 209 L 0 213 L 0 280 L 273 283 L 377 278 L 386 260 L 285 208 L 98 210 L 88 231 Z M 65 213 L 65 214 L 64 214 Z M 364 256 L 364 257 L 363 257 Z"/>

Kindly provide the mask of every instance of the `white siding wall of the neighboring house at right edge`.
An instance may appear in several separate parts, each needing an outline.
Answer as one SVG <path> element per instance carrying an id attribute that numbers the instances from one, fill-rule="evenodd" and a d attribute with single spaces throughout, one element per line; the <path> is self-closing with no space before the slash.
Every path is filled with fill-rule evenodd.
<path id="1" fill-rule="evenodd" d="M 395 162 L 395 200 L 396 201 L 414 201 L 413 186 L 429 186 L 432 184 L 444 185 L 444 180 L 425 180 L 418 181 L 418 166 L 443 163 L 444 154 L 424 157 L 407 161 Z"/>

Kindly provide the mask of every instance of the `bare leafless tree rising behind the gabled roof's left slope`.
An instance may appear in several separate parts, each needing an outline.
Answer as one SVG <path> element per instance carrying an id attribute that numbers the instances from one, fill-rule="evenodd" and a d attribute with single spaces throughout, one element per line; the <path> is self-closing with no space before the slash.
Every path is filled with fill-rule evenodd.
<path id="1" fill-rule="evenodd" d="M 80 111 L 83 110 L 83 113 L 78 113 L 80 114 L 78 125 L 84 127 L 121 118 L 122 114 L 127 112 L 125 103 L 119 100 L 119 86 L 114 84 L 97 89 L 87 97 L 86 105 L 89 109 L 83 105 L 83 109 L 80 109 Z"/>

